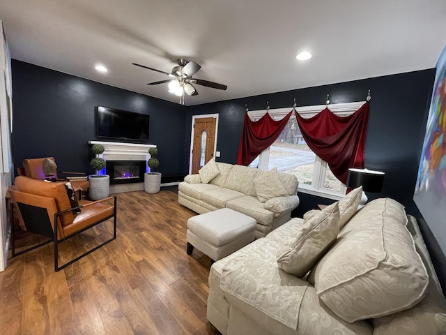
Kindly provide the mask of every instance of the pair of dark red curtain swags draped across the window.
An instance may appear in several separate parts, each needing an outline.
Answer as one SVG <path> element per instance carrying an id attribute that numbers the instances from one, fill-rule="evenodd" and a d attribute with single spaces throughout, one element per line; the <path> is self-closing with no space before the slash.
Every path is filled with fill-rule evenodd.
<path id="1" fill-rule="evenodd" d="M 279 137 L 293 111 L 279 121 L 266 113 L 259 121 L 247 114 L 238 147 L 237 164 L 249 165 Z M 339 117 L 328 108 L 304 119 L 295 112 L 302 136 L 314 153 L 328 163 L 330 170 L 344 184 L 348 168 L 364 168 L 365 138 L 369 119 L 369 103 L 347 117 Z"/>

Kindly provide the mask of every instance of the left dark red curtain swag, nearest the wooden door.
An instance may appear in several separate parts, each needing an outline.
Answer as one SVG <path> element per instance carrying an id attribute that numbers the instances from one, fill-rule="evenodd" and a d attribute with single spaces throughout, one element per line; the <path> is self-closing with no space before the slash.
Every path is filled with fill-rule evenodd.
<path id="1" fill-rule="evenodd" d="M 279 121 L 273 120 L 268 113 L 263 115 L 259 121 L 251 121 L 248 114 L 245 114 L 237 164 L 249 165 L 263 150 L 270 147 L 285 128 L 292 113 L 293 111 L 289 112 Z"/>

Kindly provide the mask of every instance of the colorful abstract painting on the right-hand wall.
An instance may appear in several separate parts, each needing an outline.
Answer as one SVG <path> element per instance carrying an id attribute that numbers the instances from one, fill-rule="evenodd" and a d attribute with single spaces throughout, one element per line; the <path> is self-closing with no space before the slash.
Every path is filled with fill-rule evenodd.
<path id="1" fill-rule="evenodd" d="M 437 62 L 413 199 L 446 254 L 446 46 Z"/>

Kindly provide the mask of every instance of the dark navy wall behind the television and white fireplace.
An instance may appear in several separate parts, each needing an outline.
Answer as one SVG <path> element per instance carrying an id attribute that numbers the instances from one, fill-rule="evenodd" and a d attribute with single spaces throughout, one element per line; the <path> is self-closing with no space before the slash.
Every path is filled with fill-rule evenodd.
<path id="1" fill-rule="evenodd" d="M 149 114 L 149 140 L 139 143 L 157 145 L 163 177 L 185 174 L 185 106 L 22 61 L 12 67 L 15 167 L 24 158 L 54 156 L 59 172 L 94 173 L 88 142 L 113 142 L 96 137 L 95 107 L 102 105 Z"/>

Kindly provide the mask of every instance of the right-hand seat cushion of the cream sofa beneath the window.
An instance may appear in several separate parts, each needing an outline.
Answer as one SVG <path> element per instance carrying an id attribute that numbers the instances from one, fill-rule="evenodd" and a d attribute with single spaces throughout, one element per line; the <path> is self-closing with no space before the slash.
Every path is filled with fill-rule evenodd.
<path id="1" fill-rule="evenodd" d="M 268 211 L 268 209 L 264 209 L 263 203 L 259 199 L 249 195 L 226 202 L 226 208 L 251 216 L 260 225 L 269 226 L 274 220 L 274 213 Z M 258 228 L 256 229 L 259 230 Z"/>

